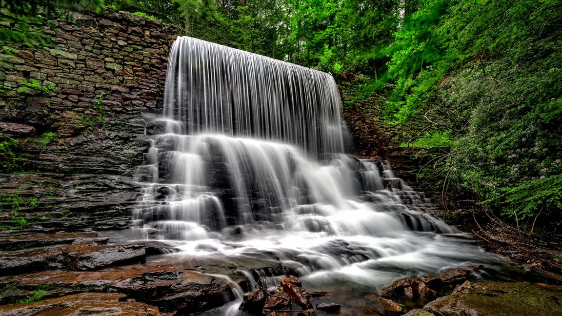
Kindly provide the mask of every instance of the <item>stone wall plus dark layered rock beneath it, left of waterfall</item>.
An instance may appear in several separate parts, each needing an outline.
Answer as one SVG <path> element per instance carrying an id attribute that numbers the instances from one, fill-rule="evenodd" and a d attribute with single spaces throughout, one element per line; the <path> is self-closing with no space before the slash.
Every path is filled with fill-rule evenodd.
<path id="1" fill-rule="evenodd" d="M 178 29 L 110 9 L 58 16 L 30 17 L 33 36 L 0 54 L 0 236 L 128 227 L 162 113 Z M 17 25 L 5 9 L 0 24 Z"/>

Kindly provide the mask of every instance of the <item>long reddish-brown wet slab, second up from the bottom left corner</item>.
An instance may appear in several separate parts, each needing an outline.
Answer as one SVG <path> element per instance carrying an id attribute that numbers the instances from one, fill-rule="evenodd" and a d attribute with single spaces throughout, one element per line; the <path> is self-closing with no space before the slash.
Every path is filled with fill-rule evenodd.
<path id="1" fill-rule="evenodd" d="M 161 312 L 177 310 L 189 314 L 224 305 L 225 297 L 232 296 L 230 287 L 221 279 L 171 265 L 136 264 L 0 277 L 0 288 L 10 285 L 16 288 L 5 294 L 0 304 L 13 303 L 29 296 L 31 291 L 47 288 L 49 297 L 65 296 L 72 291 L 119 292 L 128 299 L 158 306 Z"/>

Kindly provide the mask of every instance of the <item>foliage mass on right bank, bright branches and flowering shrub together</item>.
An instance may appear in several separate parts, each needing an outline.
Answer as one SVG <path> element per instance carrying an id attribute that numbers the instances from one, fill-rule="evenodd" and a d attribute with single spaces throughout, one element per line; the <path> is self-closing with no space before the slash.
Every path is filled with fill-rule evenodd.
<path id="1" fill-rule="evenodd" d="M 419 4 L 388 50 L 388 114 L 404 121 L 424 111 L 452 131 L 434 172 L 444 190 L 468 189 L 518 220 L 562 222 L 562 36 L 547 31 L 562 6 Z"/>

